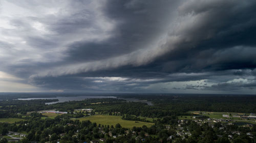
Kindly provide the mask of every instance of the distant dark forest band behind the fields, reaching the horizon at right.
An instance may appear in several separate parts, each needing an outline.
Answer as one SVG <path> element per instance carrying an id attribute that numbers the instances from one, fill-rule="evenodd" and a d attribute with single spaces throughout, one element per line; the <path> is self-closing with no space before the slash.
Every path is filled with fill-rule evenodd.
<path id="1" fill-rule="evenodd" d="M 129 96 L 126 96 L 129 97 Z M 133 96 L 132 96 L 133 97 Z M 129 97 L 131 98 L 131 97 Z M 154 103 L 148 106 L 141 102 L 126 102 L 123 99 L 87 99 L 83 101 L 63 102 L 46 105 L 49 100 L 0 101 L 0 118 L 16 117 L 16 113 L 56 109 L 71 111 L 79 108 L 93 108 L 100 114 L 119 112 L 118 115 L 134 115 L 136 117 L 162 118 L 165 116 L 189 115 L 189 110 L 256 112 L 256 96 L 139 96 L 138 98 Z M 33 106 L 33 108 L 31 108 Z M 131 119 L 135 120 L 135 119 Z M 139 119 L 138 119 L 139 120 Z"/>

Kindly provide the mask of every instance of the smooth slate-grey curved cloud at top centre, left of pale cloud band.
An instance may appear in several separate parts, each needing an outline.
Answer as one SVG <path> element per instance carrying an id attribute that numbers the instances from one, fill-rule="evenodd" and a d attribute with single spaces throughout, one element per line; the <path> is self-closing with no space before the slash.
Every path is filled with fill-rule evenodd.
<path id="1" fill-rule="evenodd" d="M 173 10 L 177 9 L 175 7 L 177 3 L 176 1 L 108 1 L 103 13 L 117 23 L 111 33 L 112 38 L 100 42 L 74 42 L 68 49 L 70 59 L 94 61 L 147 48 L 152 40 L 159 38 L 166 31 L 174 15 Z"/>

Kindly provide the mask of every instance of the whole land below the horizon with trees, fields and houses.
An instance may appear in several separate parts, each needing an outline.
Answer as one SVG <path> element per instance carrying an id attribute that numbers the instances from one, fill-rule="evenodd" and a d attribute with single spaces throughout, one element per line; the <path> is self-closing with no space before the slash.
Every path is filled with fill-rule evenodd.
<path id="1" fill-rule="evenodd" d="M 34 95 L 0 96 L 2 140 L 253 142 L 256 131 L 255 95 L 106 94 L 54 104 Z"/>

